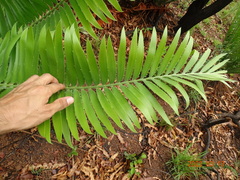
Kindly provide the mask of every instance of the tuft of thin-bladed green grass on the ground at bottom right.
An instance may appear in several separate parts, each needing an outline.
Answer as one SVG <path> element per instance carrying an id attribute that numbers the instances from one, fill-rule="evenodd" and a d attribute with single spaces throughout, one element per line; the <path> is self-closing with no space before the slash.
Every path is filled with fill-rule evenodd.
<path id="1" fill-rule="evenodd" d="M 204 153 L 193 154 L 190 152 L 191 145 L 189 145 L 183 151 L 174 149 L 175 155 L 172 154 L 172 159 L 166 164 L 170 167 L 170 172 L 174 176 L 174 179 L 181 178 L 197 178 L 199 175 L 203 174 L 203 169 L 206 168 L 202 166 L 202 157 Z M 200 162 L 200 164 L 191 165 L 192 162 Z"/>

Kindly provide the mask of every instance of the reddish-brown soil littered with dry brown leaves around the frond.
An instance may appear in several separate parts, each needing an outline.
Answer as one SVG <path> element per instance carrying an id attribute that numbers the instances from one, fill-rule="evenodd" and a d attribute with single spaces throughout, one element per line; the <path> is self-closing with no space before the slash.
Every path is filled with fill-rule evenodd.
<path id="1" fill-rule="evenodd" d="M 145 29 L 145 41 L 148 42 L 151 31 L 148 27 L 157 25 L 159 37 L 167 25 L 171 38 L 172 28 L 177 24 L 184 10 L 178 6 L 178 1 L 165 7 L 149 3 L 129 4 L 123 7 L 123 12 L 111 10 L 117 21 L 108 24 L 99 21 L 103 30 L 96 30 L 102 36 L 111 36 L 118 43 L 119 34 L 124 26 L 131 41 L 132 30 L 135 27 Z M 227 28 L 222 31 L 216 28 L 222 22 L 218 16 L 211 17 L 211 27 L 202 26 L 210 37 L 223 41 Z M 221 36 L 220 36 L 221 34 Z M 207 48 L 217 52 L 213 41 L 203 36 L 199 29 L 194 29 L 195 49 L 200 52 Z M 117 47 L 117 46 L 116 46 Z M 201 153 L 205 150 L 207 131 L 203 124 L 214 119 L 220 119 L 224 113 L 234 114 L 240 111 L 240 76 L 230 78 L 232 88 L 220 82 L 205 82 L 208 103 L 201 99 L 192 100 L 191 106 L 185 109 L 184 102 L 180 106 L 180 116 L 176 116 L 165 106 L 166 112 L 175 126 L 170 128 L 161 123 L 150 125 L 139 115 L 142 128 L 137 133 L 116 128 L 117 135 L 109 134 L 102 138 L 97 134 L 89 135 L 79 130 L 80 142 L 74 141 L 75 151 L 64 142 L 54 140 L 52 144 L 42 138 L 36 128 L 29 131 L 13 132 L 0 136 L 0 179 L 80 179 L 80 180 L 117 180 L 117 179 L 174 179 L 166 162 L 174 154 L 174 148 L 184 150 L 193 143 L 191 150 Z M 179 95 L 181 101 L 182 97 Z M 240 173 L 240 128 L 227 117 L 228 122 L 208 128 L 211 140 L 206 161 L 214 164 L 223 162 L 226 166 L 218 167 L 217 171 L 209 171 L 199 179 L 238 179 Z M 139 175 L 129 177 L 130 161 L 124 152 L 135 153 L 137 156 L 145 153 L 147 158 L 137 167 Z M 78 155 L 73 155 L 73 154 Z M 226 168 L 228 167 L 228 168 Z M 232 169 L 235 169 L 232 170 Z M 235 172 L 235 174 L 234 174 Z M 237 175 L 238 174 L 238 175 Z M 187 178 L 186 178 L 187 179 Z M 191 178 L 194 179 L 194 178 Z"/>

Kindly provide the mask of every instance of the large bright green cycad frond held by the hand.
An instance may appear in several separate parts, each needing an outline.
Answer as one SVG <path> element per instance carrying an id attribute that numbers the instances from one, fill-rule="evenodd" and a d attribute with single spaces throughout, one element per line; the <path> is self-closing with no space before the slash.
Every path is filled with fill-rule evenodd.
<path id="1" fill-rule="evenodd" d="M 91 3 L 96 5 L 97 1 L 104 3 L 99 0 Z M 57 1 L 60 2 L 62 1 Z M 74 4 L 84 0 L 69 2 Z M 89 2 L 85 1 L 88 8 L 94 7 L 92 12 L 99 13 L 100 10 L 96 9 L 99 6 L 90 6 Z M 119 8 L 117 1 L 109 2 Z M 62 8 L 62 5 L 50 8 L 45 14 L 61 14 L 59 11 Z M 78 10 L 86 15 L 85 10 Z M 102 14 L 106 14 L 105 10 L 101 10 Z M 68 17 L 68 11 L 64 13 Z M 160 42 L 157 42 L 157 33 L 153 29 L 151 42 L 145 52 L 142 31 L 136 29 L 130 50 L 127 51 L 123 29 L 116 52 L 111 39 L 105 37 L 95 51 L 90 40 L 86 40 L 84 45 L 80 43 L 77 21 L 68 26 L 64 22 L 64 16 L 60 16 L 60 21 L 53 28 L 48 24 L 52 17 L 57 21 L 54 15 L 46 16 L 44 20 L 40 20 L 40 23 L 46 22 L 41 27 L 35 26 L 38 18 L 36 22 L 30 23 L 31 25 L 22 25 L 20 28 L 14 25 L 0 39 L 0 96 L 30 75 L 50 73 L 66 85 L 66 90 L 55 94 L 50 101 L 66 95 L 75 99 L 73 105 L 56 113 L 51 121 L 48 120 L 38 127 L 40 134 L 49 142 L 51 125 L 58 141 L 61 142 L 64 138 L 70 147 L 72 136 L 79 140 L 79 126 L 89 134 L 95 130 L 103 137 L 106 137 L 105 131 L 116 133 L 113 123 L 120 128 L 124 128 L 125 124 L 135 132 L 136 128 L 140 128 L 140 123 L 133 107 L 138 108 L 151 124 L 161 118 L 172 125 L 164 107 L 159 103 L 159 98 L 178 114 L 179 102 L 173 89 L 182 94 L 188 107 L 189 96 L 185 86 L 195 89 L 207 100 L 201 80 L 228 81 L 225 77 L 226 71 L 220 69 L 226 60 L 218 62 L 224 54 L 208 60 L 210 50 L 207 50 L 200 56 L 199 52 L 192 51 L 193 39 L 189 34 L 179 44 L 178 31 L 171 45 L 166 46 L 167 28 Z M 92 23 L 86 19 L 88 24 Z M 83 28 L 92 31 L 85 26 Z M 94 33 L 91 34 L 95 36 Z"/>

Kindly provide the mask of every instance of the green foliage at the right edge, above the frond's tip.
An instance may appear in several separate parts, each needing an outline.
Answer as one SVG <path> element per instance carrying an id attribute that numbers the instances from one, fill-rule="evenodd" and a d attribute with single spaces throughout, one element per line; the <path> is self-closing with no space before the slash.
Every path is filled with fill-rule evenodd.
<path id="1" fill-rule="evenodd" d="M 226 65 L 229 73 L 240 73 L 240 9 L 228 30 L 224 42 L 224 49 L 230 61 Z"/>

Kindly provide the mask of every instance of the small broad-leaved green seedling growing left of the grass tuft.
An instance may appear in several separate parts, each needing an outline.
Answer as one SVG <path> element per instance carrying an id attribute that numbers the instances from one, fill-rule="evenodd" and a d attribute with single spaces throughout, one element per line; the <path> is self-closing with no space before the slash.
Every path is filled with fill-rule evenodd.
<path id="1" fill-rule="evenodd" d="M 129 175 L 132 177 L 134 174 L 140 175 L 140 173 L 137 171 L 137 167 L 143 163 L 143 159 L 147 158 L 147 155 L 145 153 L 141 153 L 140 155 L 128 154 L 127 152 L 124 152 L 124 156 L 127 160 L 130 161 L 130 167 L 129 167 Z"/>

